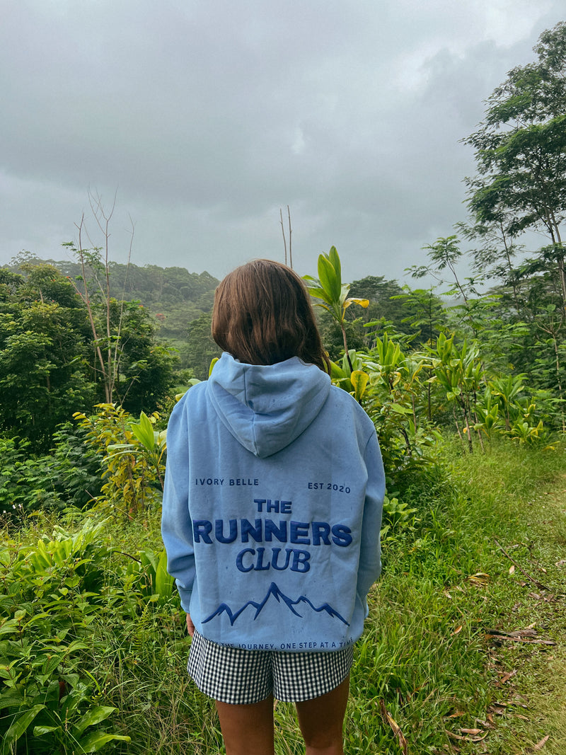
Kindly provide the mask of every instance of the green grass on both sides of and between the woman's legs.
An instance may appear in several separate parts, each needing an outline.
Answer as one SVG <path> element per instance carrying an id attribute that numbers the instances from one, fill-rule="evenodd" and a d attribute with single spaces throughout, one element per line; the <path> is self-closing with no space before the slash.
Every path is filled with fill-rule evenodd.
<path id="1" fill-rule="evenodd" d="M 401 753 L 383 705 L 412 755 L 514 755 L 546 735 L 543 752 L 566 752 L 566 564 L 556 565 L 566 558 L 564 449 L 500 442 L 469 456 L 448 444 L 434 465 L 401 479 L 398 498 L 417 512 L 384 544 L 383 576 L 355 649 L 346 753 Z M 36 522 L 22 540 L 45 526 Z M 126 527 L 109 521 L 106 532 L 105 545 L 123 553 L 161 547 L 158 511 Z M 122 559 L 106 564 L 109 586 Z M 112 751 L 223 751 L 214 704 L 186 676 L 183 624 L 175 599 L 142 601 L 134 587 L 131 595 L 127 586 L 110 590 L 101 605 L 83 665 L 96 681 L 94 702 L 117 708 L 109 728 L 131 737 Z M 533 625 L 535 639 L 557 644 L 487 636 Z M 291 704 L 276 705 L 275 724 L 278 755 L 303 753 Z M 487 736 L 447 733 L 469 738 L 462 729 Z"/>

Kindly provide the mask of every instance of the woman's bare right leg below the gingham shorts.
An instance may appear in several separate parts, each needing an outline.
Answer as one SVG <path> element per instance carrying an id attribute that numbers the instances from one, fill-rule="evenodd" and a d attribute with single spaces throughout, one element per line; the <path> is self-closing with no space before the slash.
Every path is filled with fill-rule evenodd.
<path id="1" fill-rule="evenodd" d="M 343 755 L 343 723 L 349 676 L 326 695 L 296 703 L 306 755 Z"/>

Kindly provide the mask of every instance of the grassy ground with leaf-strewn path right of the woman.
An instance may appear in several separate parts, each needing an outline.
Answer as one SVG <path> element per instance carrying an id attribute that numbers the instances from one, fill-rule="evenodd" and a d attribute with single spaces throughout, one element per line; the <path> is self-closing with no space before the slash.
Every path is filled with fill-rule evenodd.
<path id="1" fill-rule="evenodd" d="M 346 751 L 564 755 L 563 451 L 453 454 L 422 496 L 416 537 L 386 544 Z"/>

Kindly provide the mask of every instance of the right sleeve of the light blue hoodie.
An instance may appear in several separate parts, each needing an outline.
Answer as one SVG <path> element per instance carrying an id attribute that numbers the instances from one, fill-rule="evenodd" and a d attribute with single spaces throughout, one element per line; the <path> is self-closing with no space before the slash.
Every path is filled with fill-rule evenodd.
<path id="1" fill-rule="evenodd" d="M 381 514 L 385 495 L 385 473 L 377 435 L 371 434 L 365 448 L 368 484 L 365 488 L 364 514 L 361 521 L 361 549 L 358 565 L 358 595 L 365 600 L 370 587 L 381 573 Z"/>

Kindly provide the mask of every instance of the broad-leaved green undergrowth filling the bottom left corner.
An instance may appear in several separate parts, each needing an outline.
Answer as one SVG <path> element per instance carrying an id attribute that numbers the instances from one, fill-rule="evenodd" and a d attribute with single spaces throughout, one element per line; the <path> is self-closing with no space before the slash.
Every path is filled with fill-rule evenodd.
<path id="1" fill-rule="evenodd" d="M 118 639 L 139 631 L 153 605 L 167 606 L 172 580 L 165 553 L 113 559 L 106 525 L 87 519 L 78 532 L 57 526 L 51 537 L 7 539 L 0 548 L 2 755 L 94 752 L 130 741 L 109 729 L 117 707 L 103 704 L 108 670 L 91 664 L 92 649 L 107 648 L 109 618 Z"/>

